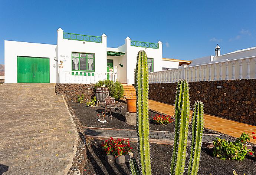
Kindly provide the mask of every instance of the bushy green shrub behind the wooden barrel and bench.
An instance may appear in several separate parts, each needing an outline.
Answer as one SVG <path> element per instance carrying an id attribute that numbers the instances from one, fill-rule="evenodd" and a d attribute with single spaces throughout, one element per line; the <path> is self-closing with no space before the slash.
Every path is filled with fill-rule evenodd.
<path id="1" fill-rule="evenodd" d="M 116 100 L 124 96 L 124 87 L 120 82 L 116 81 L 114 83 L 112 80 L 99 80 L 99 82 L 94 85 L 94 89 L 103 85 L 108 87 L 109 96 L 114 97 Z"/>

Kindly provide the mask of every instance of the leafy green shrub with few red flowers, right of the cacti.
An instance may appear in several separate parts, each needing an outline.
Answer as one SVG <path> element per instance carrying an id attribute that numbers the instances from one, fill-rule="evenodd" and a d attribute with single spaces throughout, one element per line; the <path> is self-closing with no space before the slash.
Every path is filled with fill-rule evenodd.
<path id="1" fill-rule="evenodd" d="M 243 143 L 246 143 L 247 140 L 250 140 L 250 138 L 246 133 L 242 133 L 242 135 L 237 138 L 235 142 L 216 138 L 216 140 L 213 141 L 213 156 L 222 160 L 232 159 L 243 161 L 247 151 L 250 151 L 246 146 L 243 145 Z"/>

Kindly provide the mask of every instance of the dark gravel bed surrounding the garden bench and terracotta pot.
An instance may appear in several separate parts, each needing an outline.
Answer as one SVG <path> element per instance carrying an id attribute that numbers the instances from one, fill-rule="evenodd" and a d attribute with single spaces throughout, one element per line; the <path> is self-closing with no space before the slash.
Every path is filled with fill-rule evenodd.
<path id="1" fill-rule="evenodd" d="M 100 123 L 97 121 L 97 114 L 101 114 L 104 109 L 104 104 L 100 104 L 96 108 L 86 107 L 85 104 L 70 102 L 76 117 L 81 122 L 82 126 L 96 127 L 96 128 L 114 128 L 114 129 L 136 129 L 136 126 L 128 125 L 125 123 L 125 113 L 127 111 L 127 106 L 125 103 L 121 103 L 124 109 L 121 109 L 122 115 L 119 111 L 116 113 L 112 112 L 112 119 L 110 114 L 106 114 L 107 123 Z M 155 112 L 149 111 L 150 118 L 156 115 Z M 174 122 L 168 125 L 157 125 L 150 119 L 150 130 L 151 131 L 174 131 Z"/>

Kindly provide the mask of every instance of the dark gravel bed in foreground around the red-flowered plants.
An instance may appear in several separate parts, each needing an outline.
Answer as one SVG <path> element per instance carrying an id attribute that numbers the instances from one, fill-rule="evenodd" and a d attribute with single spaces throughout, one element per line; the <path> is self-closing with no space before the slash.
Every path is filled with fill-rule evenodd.
<path id="1" fill-rule="evenodd" d="M 102 155 L 101 140 L 87 139 L 87 159 L 83 175 L 129 175 L 129 164 L 108 163 Z M 151 143 L 151 166 L 153 175 L 168 175 L 170 168 L 172 145 Z M 131 142 L 134 148 L 134 157 L 138 157 L 137 143 Z M 233 175 L 233 169 L 239 175 L 255 175 L 255 158 L 246 156 L 244 161 L 220 160 L 212 156 L 212 149 L 204 148 L 201 152 L 201 161 L 198 175 Z M 186 174 L 186 172 L 184 173 Z"/>

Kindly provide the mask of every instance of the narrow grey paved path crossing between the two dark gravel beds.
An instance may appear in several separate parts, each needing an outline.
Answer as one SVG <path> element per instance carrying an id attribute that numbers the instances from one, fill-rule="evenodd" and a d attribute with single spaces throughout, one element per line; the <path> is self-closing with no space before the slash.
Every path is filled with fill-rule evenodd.
<path id="1" fill-rule="evenodd" d="M 136 130 L 86 127 L 83 129 L 83 131 L 87 137 L 96 137 L 96 138 L 102 138 L 102 139 L 106 139 L 110 137 L 129 138 L 130 140 L 137 141 Z M 212 143 L 213 140 L 216 139 L 216 137 L 224 138 L 223 136 L 220 136 L 217 134 L 204 134 L 202 142 L 204 144 L 209 143 L 208 145 L 210 145 L 210 143 Z M 191 138 L 191 134 L 189 134 L 189 138 Z M 149 139 L 151 143 L 173 144 L 174 132 L 150 131 Z"/>

